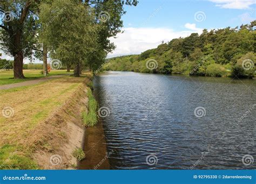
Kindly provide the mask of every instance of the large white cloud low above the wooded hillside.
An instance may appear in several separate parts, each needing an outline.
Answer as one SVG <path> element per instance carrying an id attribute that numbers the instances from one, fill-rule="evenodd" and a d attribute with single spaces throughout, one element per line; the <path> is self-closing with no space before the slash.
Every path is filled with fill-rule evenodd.
<path id="1" fill-rule="evenodd" d="M 203 29 L 196 27 L 196 24 L 186 24 L 187 31 L 174 31 L 167 28 L 151 27 L 127 27 L 124 33 L 117 35 L 117 38 L 110 40 L 117 46 L 113 53 L 108 54 L 108 58 L 120 55 L 140 54 L 147 49 L 156 48 L 161 41 L 170 41 L 173 38 L 187 37 L 193 32 L 199 34 Z"/>

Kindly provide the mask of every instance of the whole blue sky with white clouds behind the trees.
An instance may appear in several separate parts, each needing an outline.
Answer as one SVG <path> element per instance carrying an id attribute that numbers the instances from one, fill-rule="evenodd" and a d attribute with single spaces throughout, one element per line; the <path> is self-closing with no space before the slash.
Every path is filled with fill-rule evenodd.
<path id="1" fill-rule="evenodd" d="M 186 37 L 203 29 L 250 24 L 256 18 L 256 0 L 138 0 L 125 6 L 124 33 L 110 38 L 116 49 L 107 58 L 140 54 L 161 41 Z M 1 53 L 3 53 L 0 50 Z M 3 59 L 13 59 L 3 54 Z M 25 59 L 25 63 L 29 60 Z M 36 60 L 36 62 L 40 62 Z"/>

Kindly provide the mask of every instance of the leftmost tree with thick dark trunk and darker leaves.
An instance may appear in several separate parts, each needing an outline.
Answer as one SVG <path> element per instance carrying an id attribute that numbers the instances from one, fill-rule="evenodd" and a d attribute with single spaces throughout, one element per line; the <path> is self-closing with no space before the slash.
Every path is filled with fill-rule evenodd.
<path id="1" fill-rule="evenodd" d="M 31 38 L 36 30 L 33 9 L 38 1 L 11 0 L 1 3 L 0 9 L 5 17 L 0 25 L 1 48 L 6 54 L 14 56 L 14 78 L 23 79 L 23 59 L 32 56 Z"/>

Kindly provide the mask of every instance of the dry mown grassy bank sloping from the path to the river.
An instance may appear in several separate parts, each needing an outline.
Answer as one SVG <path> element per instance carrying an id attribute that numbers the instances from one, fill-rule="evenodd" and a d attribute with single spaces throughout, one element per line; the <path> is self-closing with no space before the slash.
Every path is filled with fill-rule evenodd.
<path id="1" fill-rule="evenodd" d="M 54 169 L 55 153 L 62 158 L 57 168 L 71 167 L 83 137 L 83 108 L 89 101 L 90 112 L 96 103 L 90 92 L 87 99 L 85 79 L 65 76 L 0 91 L 0 169 Z"/>

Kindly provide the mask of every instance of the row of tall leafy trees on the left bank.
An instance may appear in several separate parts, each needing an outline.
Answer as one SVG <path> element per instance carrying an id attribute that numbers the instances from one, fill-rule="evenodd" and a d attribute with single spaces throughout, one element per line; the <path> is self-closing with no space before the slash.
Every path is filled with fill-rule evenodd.
<path id="1" fill-rule="evenodd" d="M 137 0 L 1 1 L 0 46 L 14 57 L 14 78 L 24 78 L 23 59 L 47 59 L 51 67 L 96 70 L 115 46 L 109 38 L 121 32 L 124 5 Z"/>

